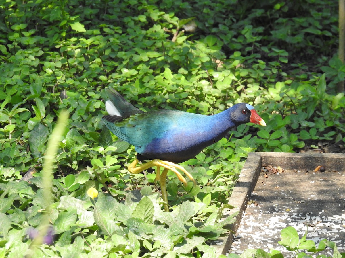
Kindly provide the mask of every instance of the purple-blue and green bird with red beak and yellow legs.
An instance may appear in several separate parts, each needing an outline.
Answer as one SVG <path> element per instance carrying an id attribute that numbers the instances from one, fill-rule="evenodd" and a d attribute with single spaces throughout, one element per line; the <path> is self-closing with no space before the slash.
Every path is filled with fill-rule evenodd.
<path id="1" fill-rule="evenodd" d="M 169 211 L 166 176 L 172 170 L 186 186 L 182 171 L 196 184 L 193 176 L 178 165 L 194 158 L 207 146 L 219 141 L 226 133 L 243 123 L 266 126 L 252 105 L 238 103 L 215 115 L 201 115 L 180 110 L 158 109 L 144 112 L 122 97 L 114 88 L 105 90 L 108 115 L 105 126 L 123 141 L 135 147 L 136 159 L 128 165 L 132 174 L 156 166 L 165 211 Z M 147 161 L 137 166 L 139 161 Z M 160 174 L 160 167 L 164 170 Z M 155 181 L 156 181 L 155 180 Z"/>

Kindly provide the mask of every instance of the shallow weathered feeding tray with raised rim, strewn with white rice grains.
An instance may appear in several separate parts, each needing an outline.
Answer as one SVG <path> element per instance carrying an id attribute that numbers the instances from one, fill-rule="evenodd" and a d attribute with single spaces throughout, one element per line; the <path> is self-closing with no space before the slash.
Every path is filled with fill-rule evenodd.
<path id="1" fill-rule="evenodd" d="M 280 166 L 285 172 L 265 177 L 263 164 Z M 324 165 L 326 172 L 313 172 L 318 165 Z M 336 241 L 339 251 L 344 252 L 344 171 L 345 154 L 250 153 L 229 200 L 239 211 L 236 223 L 229 225 L 237 233 L 213 243 L 218 254 L 239 254 L 246 248 L 284 250 L 277 244 L 280 230 L 294 226 L 302 237 L 307 225 L 308 239 Z M 253 201 L 247 205 L 249 198 Z"/>

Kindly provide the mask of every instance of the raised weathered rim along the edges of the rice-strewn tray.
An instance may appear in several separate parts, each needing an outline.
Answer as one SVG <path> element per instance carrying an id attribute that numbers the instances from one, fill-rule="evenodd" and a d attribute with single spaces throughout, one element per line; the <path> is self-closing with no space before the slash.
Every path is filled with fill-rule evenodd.
<path id="1" fill-rule="evenodd" d="M 235 206 L 235 209 L 228 211 L 225 217 L 239 212 L 236 222 L 229 225 L 232 232 L 236 232 L 239 223 L 242 220 L 243 212 L 246 210 L 250 194 L 253 192 L 259 178 L 262 164 L 280 166 L 285 170 L 301 170 L 303 172 L 313 171 L 317 166 L 323 165 L 326 171 L 345 170 L 345 154 L 339 153 L 282 153 L 282 152 L 251 152 L 248 155 L 246 163 L 241 171 L 238 183 L 231 194 L 229 204 Z M 226 254 L 234 240 L 233 233 L 229 232 L 227 236 L 221 237 L 211 243 L 217 250 L 217 256 Z"/>

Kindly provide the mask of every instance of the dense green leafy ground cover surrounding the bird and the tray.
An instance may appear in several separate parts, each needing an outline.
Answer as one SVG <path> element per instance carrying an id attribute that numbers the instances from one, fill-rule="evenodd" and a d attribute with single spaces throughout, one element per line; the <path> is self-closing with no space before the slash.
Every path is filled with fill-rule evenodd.
<path id="1" fill-rule="evenodd" d="M 2 0 L 0 8 L 2 257 L 215 257 L 207 243 L 231 221 L 219 218 L 250 151 L 344 146 L 334 1 Z M 155 175 L 130 175 L 134 149 L 101 124 L 108 86 L 145 111 L 214 114 L 244 101 L 267 127 L 241 125 L 182 163 L 197 186 L 169 174 L 164 213 Z M 34 178 L 19 181 L 29 170 Z M 43 222 L 48 238 L 37 245 Z"/>

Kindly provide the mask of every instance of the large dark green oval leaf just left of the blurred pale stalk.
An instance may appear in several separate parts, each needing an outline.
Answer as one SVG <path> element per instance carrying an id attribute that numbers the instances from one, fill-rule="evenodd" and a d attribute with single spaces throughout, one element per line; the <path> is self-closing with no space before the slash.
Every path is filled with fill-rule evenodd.
<path id="1" fill-rule="evenodd" d="M 45 152 L 45 143 L 48 141 L 48 134 L 49 131 L 47 127 L 41 123 L 37 123 L 37 125 L 32 129 L 29 136 L 29 145 L 33 157 L 38 158 L 43 154 L 43 152 Z"/>

